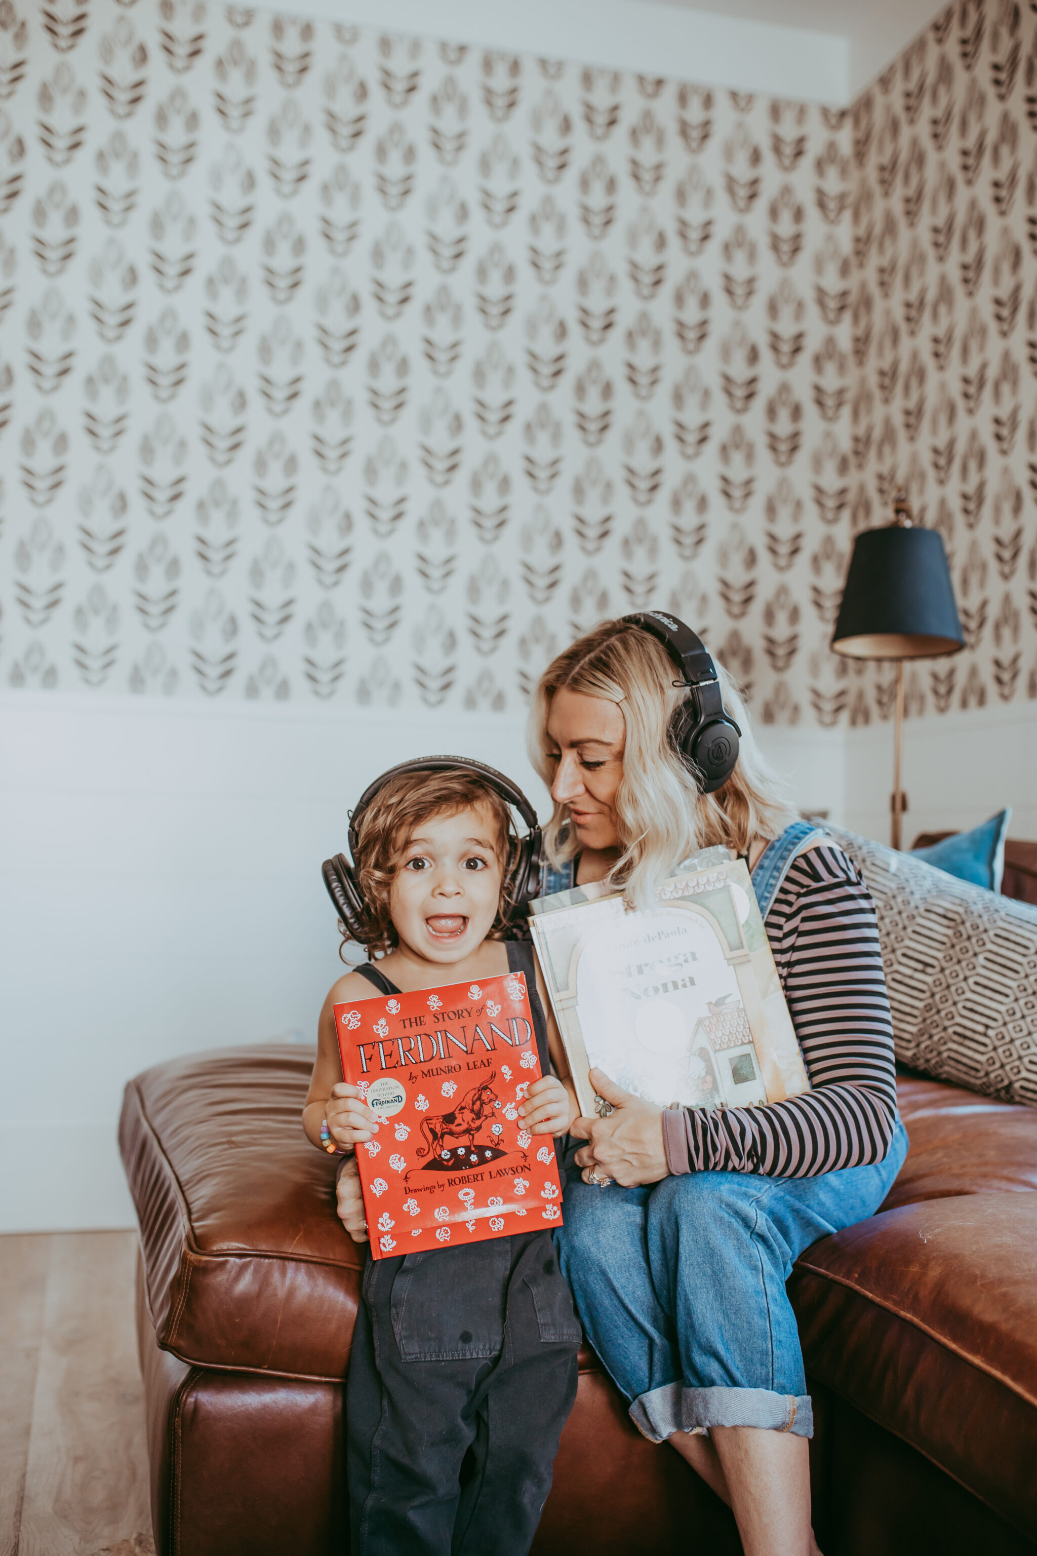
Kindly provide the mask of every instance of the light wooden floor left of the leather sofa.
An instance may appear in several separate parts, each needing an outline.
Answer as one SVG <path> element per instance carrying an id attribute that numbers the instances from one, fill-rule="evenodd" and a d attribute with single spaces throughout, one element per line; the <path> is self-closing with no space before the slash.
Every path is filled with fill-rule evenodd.
<path id="1" fill-rule="evenodd" d="M 134 1232 L 0 1237 L 0 1556 L 145 1556 Z"/>

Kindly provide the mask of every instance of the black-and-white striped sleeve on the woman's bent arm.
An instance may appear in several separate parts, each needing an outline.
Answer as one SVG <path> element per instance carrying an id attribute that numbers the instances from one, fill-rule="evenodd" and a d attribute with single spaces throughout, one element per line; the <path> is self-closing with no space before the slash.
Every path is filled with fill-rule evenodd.
<path id="1" fill-rule="evenodd" d="M 889 1150 L 892 1021 L 875 906 L 857 867 L 833 843 L 807 850 L 765 927 L 813 1091 L 768 1106 L 664 1113 L 670 1172 L 808 1178 Z"/>

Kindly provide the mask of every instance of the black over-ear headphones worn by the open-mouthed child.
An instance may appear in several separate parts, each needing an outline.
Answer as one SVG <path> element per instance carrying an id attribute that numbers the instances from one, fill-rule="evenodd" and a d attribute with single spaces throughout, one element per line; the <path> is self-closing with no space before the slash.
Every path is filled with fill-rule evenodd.
<path id="1" fill-rule="evenodd" d="M 513 784 L 510 778 L 499 773 L 496 767 L 487 767 L 485 762 L 477 762 L 471 756 L 418 756 L 410 762 L 400 762 L 396 767 L 390 767 L 381 778 L 368 784 L 356 801 L 354 809 L 350 811 L 350 854 L 356 859 L 359 822 L 364 811 L 390 778 L 400 778 L 403 773 L 440 773 L 457 772 L 459 769 L 460 772 L 474 773 L 476 778 L 482 778 L 487 787 L 515 806 L 525 822 L 525 837 L 512 840 L 512 853 L 505 871 L 508 892 L 504 921 L 512 923 L 521 915 L 525 904 L 539 895 L 543 846 L 539 822 L 536 820 L 536 811 L 518 784 Z M 345 854 L 336 854 L 334 859 L 325 859 L 320 865 L 320 874 L 347 935 L 351 940 L 364 943 L 367 934 L 367 906 L 356 874 L 356 865 Z"/>

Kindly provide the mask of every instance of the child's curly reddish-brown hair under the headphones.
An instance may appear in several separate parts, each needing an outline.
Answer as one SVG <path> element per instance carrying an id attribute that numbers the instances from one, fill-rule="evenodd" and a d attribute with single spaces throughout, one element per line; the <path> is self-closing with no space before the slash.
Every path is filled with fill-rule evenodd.
<path id="1" fill-rule="evenodd" d="M 457 815 L 470 806 L 488 809 L 494 826 L 494 851 L 501 862 L 501 901 L 490 927 L 490 940 L 504 940 L 510 906 L 508 887 L 518 859 L 518 836 L 507 801 L 476 773 L 457 767 L 451 772 L 401 773 L 378 790 L 364 811 L 356 846 L 358 882 L 365 915 L 361 943 L 368 957 L 384 957 L 400 944 L 389 899 L 400 859 L 414 832 L 434 815 Z M 353 937 L 345 934 L 339 955 Z"/>

